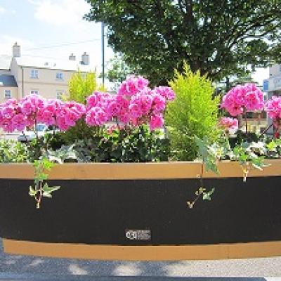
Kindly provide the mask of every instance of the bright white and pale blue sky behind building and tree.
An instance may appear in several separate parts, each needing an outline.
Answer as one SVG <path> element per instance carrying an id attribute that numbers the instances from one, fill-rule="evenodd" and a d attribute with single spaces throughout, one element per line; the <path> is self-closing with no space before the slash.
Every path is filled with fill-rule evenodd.
<path id="1" fill-rule="evenodd" d="M 101 25 L 83 20 L 89 9 L 84 0 L 0 0 L 0 55 L 11 55 L 15 41 L 22 55 L 67 59 L 74 53 L 80 60 L 86 51 L 91 68 L 101 72 Z M 113 55 L 106 47 L 105 61 Z M 268 68 L 253 74 L 259 84 L 268 76 Z"/>

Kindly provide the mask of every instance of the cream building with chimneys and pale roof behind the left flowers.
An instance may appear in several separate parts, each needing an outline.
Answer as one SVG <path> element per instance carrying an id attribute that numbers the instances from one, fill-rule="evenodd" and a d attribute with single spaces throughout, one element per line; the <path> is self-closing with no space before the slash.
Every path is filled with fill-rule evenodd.
<path id="1" fill-rule="evenodd" d="M 60 98 L 67 93 L 68 81 L 77 71 L 90 71 L 89 55 L 76 60 L 73 53 L 68 60 L 51 60 L 22 56 L 20 46 L 13 45 L 10 65 L 0 60 L 0 103 L 8 98 L 20 99 L 30 93 L 44 98 Z"/>

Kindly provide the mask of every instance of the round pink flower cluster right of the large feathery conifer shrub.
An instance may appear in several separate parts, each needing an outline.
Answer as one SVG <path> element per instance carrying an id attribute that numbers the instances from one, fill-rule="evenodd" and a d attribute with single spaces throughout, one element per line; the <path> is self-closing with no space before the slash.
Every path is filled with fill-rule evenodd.
<path id="1" fill-rule="evenodd" d="M 221 107 L 230 115 L 241 115 L 246 111 L 263 110 L 263 92 L 255 84 L 238 85 L 223 96 Z"/>

